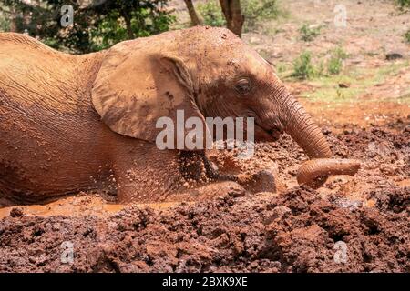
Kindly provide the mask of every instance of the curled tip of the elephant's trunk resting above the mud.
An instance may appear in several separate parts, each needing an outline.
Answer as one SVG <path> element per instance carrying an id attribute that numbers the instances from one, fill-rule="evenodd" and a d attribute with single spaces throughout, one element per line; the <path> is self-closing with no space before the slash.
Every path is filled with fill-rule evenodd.
<path id="1" fill-rule="evenodd" d="M 354 176 L 360 165 L 360 161 L 353 159 L 316 158 L 303 163 L 299 168 L 297 180 L 299 185 L 316 188 L 323 185 L 325 178 L 330 175 Z"/>

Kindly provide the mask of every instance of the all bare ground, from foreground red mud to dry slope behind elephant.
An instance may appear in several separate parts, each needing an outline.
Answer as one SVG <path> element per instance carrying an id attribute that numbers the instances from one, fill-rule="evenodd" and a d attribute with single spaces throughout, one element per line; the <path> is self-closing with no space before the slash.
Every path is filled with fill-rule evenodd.
<path id="1" fill-rule="evenodd" d="M 284 2 L 289 18 L 243 39 L 284 68 L 278 74 L 334 156 L 362 160 L 356 176 L 332 176 L 317 190 L 298 186 L 307 157 L 283 135 L 246 162 L 234 152 L 209 154 L 225 173 L 269 171 L 275 192 L 260 185 L 257 194 L 235 197 L 217 185 L 149 206 L 80 193 L 0 208 L 0 272 L 410 272 L 409 14 L 389 1 L 341 2 L 346 29 L 332 25 L 339 1 L 293 0 Z M 306 21 L 323 25 L 310 43 L 298 35 Z M 303 49 L 316 60 L 336 46 L 349 54 L 341 75 L 287 77 Z M 389 53 L 402 58 L 387 60 Z"/>

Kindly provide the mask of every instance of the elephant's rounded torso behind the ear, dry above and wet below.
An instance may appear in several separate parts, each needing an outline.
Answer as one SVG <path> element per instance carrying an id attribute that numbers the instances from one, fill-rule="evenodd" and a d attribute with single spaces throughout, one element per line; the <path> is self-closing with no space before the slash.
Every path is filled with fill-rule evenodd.
<path id="1" fill-rule="evenodd" d="M 67 193 L 104 166 L 110 132 L 90 99 L 97 57 L 0 34 L 0 189 Z"/>

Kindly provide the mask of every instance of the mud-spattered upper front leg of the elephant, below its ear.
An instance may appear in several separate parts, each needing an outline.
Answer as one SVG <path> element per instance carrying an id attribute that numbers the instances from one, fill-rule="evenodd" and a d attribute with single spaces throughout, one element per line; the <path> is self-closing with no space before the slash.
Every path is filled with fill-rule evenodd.
<path id="1" fill-rule="evenodd" d="M 157 202 L 182 185 L 178 152 L 148 142 L 125 138 L 113 150 L 112 165 L 118 203 Z"/>

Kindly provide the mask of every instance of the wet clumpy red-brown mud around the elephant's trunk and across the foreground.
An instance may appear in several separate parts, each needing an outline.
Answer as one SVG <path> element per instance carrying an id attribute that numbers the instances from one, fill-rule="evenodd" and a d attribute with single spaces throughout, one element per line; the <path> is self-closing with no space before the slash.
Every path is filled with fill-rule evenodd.
<path id="1" fill-rule="evenodd" d="M 274 162 L 276 194 L 221 192 L 173 207 L 113 206 L 80 216 L 8 209 L 0 272 L 410 272 L 408 124 L 323 129 L 335 156 L 361 159 L 363 167 L 318 190 L 295 186 L 306 157 L 285 135 L 258 146 L 243 165 L 232 153 L 212 157 L 227 173 Z M 91 197 L 78 199 L 87 205 Z M 65 241 L 74 247 L 72 264 L 60 260 Z"/>

